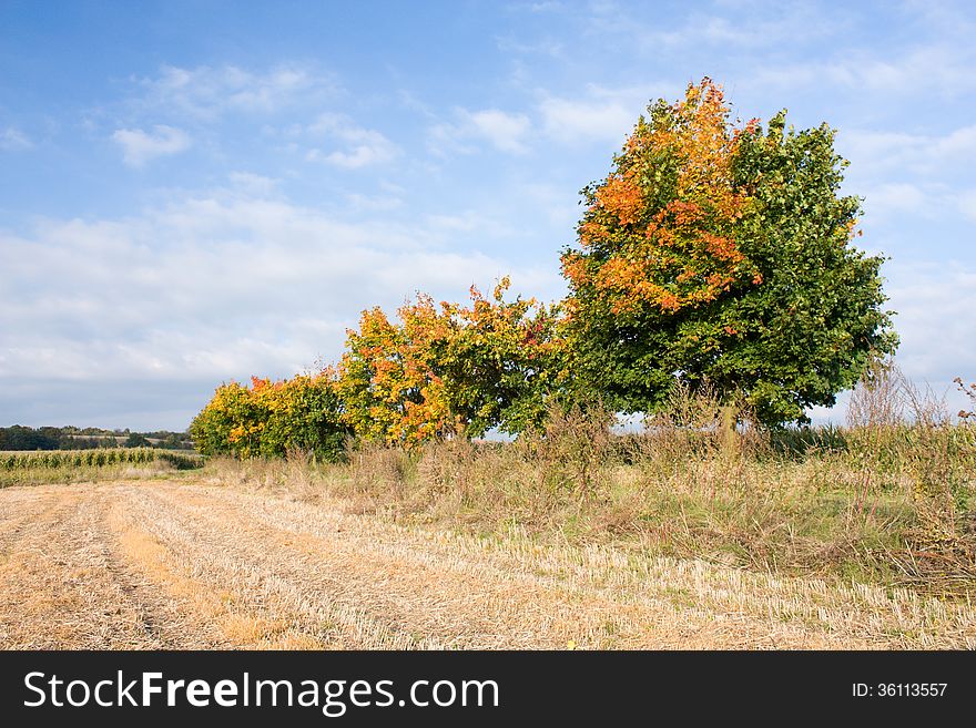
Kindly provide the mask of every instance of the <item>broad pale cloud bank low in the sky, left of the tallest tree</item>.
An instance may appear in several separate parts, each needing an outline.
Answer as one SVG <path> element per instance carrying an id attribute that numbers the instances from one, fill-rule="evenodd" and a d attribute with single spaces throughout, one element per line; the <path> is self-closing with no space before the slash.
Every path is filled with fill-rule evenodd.
<path id="1" fill-rule="evenodd" d="M 418 289 L 458 299 L 508 273 L 523 293 L 556 287 L 556 271 L 448 247 L 472 226 L 489 246 L 471 215 L 352 224 L 235 183 L 138 217 L 0 232 L 0 378 L 111 397 L 113 381 L 279 377 L 336 358 L 360 310 Z"/>

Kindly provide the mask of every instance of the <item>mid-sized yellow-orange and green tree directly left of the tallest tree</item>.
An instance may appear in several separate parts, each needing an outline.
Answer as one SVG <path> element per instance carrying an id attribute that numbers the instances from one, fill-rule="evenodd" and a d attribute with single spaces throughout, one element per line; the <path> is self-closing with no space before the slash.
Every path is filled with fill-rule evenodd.
<path id="1" fill-rule="evenodd" d="M 565 371 L 558 309 L 535 299 L 505 301 L 470 289 L 468 305 L 427 295 L 390 321 L 380 308 L 349 330 L 339 365 L 345 421 L 367 440 L 406 447 L 494 427 L 518 432 L 541 421 Z"/>

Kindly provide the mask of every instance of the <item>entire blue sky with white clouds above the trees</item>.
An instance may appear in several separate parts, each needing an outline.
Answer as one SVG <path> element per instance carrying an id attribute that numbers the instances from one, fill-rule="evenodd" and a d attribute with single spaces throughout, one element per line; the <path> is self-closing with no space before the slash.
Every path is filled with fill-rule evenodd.
<path id="1" fill-rule="evenodd" d="M 837 130 L 897 362 L 962 403 L 974 37 L 965 1 L 0 0 L 0 425 L 184 430 L 365 308 L 560 298 L 579 191 L 704 75 Z"/>

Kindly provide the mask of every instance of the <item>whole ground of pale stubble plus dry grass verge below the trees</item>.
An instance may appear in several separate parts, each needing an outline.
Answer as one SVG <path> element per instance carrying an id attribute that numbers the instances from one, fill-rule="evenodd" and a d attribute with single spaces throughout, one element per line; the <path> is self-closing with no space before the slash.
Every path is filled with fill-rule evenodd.
<path id="1" fill-rule="evenodd" d="M 0 490 L 0 645 L 976 647 L 968 526 L 908 475 L 695 452 L 52 466 Z"/>

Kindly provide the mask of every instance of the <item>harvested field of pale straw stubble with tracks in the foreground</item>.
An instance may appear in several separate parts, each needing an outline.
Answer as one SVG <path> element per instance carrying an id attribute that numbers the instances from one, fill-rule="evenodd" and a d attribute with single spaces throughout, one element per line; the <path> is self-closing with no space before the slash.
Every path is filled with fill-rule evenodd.
<path id="1" fill-rule="evenodd" d="M 976 611 L 189 481 L 0 491 L 4 648 L 919 648 Z"/>

